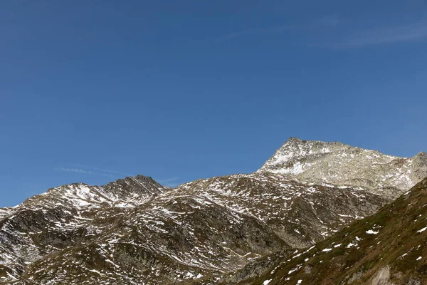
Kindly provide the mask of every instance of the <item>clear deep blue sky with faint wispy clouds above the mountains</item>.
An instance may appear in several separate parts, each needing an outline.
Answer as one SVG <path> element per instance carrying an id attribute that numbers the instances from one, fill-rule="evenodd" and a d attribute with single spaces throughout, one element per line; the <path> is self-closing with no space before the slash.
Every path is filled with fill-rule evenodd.
<path id="1" fill-rule="evenodd" d="M 253 172 L 290 136 L 427 151 L 426 1 L 4 0 L 0 38 L 0 207 Z"/>

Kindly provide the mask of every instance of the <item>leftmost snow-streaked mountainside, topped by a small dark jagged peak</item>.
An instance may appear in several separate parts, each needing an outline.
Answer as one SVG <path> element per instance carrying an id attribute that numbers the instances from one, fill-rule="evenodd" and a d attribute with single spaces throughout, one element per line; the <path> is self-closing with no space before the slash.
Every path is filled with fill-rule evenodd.
<path id="1" fill-rule="evenodd" d="M 90 242 L 127 208 L 168 189 L 139 175 L 103 187 L 64 185 L 2 209 L 0 281 L 16 279 L 28 264 L 48 254 Z"/>

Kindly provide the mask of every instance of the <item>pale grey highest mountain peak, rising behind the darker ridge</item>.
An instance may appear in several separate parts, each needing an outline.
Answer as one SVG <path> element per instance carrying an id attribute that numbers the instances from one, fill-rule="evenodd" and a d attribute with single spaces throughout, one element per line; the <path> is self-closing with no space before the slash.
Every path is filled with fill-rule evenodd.
<path id="1" fill-rule="evenodd" d="M 397 197 L 427 176 L 427 155 L 384 155 L 341 142 L 290 138 L 257 172 L 287 175 L 307 182 L 384 190 Z M 377 191 L 376 191 L 377 192 Z"/>

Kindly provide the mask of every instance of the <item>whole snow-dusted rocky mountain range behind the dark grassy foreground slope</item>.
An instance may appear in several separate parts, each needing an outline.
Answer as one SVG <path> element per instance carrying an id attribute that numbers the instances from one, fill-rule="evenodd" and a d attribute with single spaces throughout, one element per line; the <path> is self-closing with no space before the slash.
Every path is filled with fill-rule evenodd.
<path id="1" fill-rule="evenodd" d="M 0 209 L 0 284 L 316 284 L 264 269 L 278 262 L 279 272 L 292 264 L 291 252 L 322 249 L 426 176 L 425 152 L 401 158 L 290 138 L 248 175 L 174 189 L 142 175 L 63 185 Z M 363 282 L 369 270 L 345 278 Z"/>

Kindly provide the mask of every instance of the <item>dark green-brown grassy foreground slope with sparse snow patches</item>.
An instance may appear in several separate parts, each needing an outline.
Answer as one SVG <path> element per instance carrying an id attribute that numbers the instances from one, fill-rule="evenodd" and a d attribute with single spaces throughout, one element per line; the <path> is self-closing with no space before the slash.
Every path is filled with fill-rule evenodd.
<path id="1" fill-rule="evenodd" d="M 263 257 L 219 283 L 427 284 L 427 178 L 325 241 Z"/>

